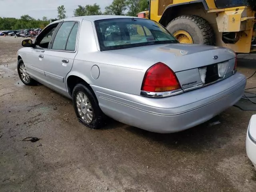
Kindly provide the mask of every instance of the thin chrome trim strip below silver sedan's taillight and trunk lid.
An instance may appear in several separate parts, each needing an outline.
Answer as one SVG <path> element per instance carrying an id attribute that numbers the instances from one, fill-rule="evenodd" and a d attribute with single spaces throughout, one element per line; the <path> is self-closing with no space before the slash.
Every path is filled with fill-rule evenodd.
<path id="1" fill-rule="evenodd" d="M 152 97 L 152 98 L 163 98 L 163 97 L 170 97 L 170 96 L 174 96 L 174 95 L 178 95 L 178 94 L 182 94 L 184 92 L 188 92 L 191 90 L 196 90 L 198 88 L 202 88 L 202 87 L 206 87 L 208 85 L 214 84 L 216 82 L 219 82 L 221 80 L 224 80 L 230 76 L 232 76 L 233 74 L 236 73 L 236 70 L 225 74 L 224 78 L 219 78 L 218 80 L 208 83 L 208 84 L 204 84 L 204 83 L 198 83 L 195 85 L 191 85 L 191 86 L 187 86 L 181 89 L 177 89 L 177 90 L 173 90 L 173 91 L 168 91 L 168 92 L 147 92 L 147 91 L 140 91 L 140 95 L 141 96 L 146 96 L 146 97 Z"/>

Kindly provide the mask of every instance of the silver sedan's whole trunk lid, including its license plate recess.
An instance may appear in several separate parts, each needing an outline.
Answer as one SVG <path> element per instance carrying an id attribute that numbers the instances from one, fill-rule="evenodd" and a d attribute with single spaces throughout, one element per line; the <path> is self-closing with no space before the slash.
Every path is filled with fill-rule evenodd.
<path id="1" fill-rule="evenodd" d="M 234 74 L 236 60 L 232 50 L 196 44 L 158 44 L 110 52 L 137 58 L 138 62 L 148 61 L 148 65 L 138 63 L 145 71 L 158 62 L 166 64 L 176 74 L 184 92 Z"/>

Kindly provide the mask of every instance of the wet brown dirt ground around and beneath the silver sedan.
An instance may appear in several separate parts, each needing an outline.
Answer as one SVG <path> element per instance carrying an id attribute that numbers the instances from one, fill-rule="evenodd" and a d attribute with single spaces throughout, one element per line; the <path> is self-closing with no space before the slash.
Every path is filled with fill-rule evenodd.
<path id="1" fill-rule="evenodd" d="M 246 130 L 255 112 L 231 107 L 216 120 L 155 134 L 109 120 L 90 130 L 72 102 L 45 86 L 24 86 L 16 70 L 23 38 L 0 37 L 1 192 L 255 192 Z M 250 76 L 256 56 L 242 55 Z M 256 77 L 248 80 L 255 86 Z M 22 142 L 26 137 L 38 142 Z"/>

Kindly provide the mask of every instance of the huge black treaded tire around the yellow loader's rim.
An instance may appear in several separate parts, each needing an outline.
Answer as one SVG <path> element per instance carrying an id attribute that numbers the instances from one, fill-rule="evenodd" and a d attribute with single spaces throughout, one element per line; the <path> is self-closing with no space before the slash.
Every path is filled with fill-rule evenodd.
<path id="1" fill-rule="evenodd" d="M 215 45 L 215 35 L 212 26 L 200 16 L 179 16 L 172 20 L 166 28 L 172 34 L 179 30 L 188 32 L 195 44 Z"/>

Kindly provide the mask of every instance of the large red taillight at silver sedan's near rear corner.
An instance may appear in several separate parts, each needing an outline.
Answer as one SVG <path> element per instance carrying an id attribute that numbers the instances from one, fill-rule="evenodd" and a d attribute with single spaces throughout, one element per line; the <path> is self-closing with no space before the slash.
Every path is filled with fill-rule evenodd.
<path id="1" fill-rule="evenodd" d="M 180 83 L 174 72 L 165 64 L 159 62 L 150 67 L 142 82 L 142 91 L 166 92 L 180 89 Z"/>

